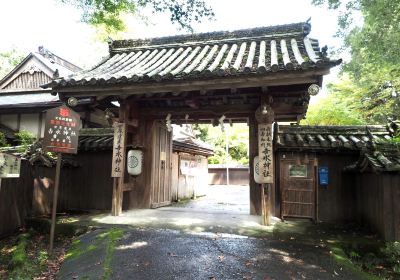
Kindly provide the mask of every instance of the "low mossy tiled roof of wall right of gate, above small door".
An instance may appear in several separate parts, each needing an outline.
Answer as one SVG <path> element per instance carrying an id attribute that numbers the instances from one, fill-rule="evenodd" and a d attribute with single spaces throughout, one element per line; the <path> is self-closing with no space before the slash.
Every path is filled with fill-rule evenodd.
<path id="1" fill-rule="evenodd" d="M 361 150 L 391 139 L 387 126 L 275 126 L 277 149 Z M 371 139 L 373 141 L 371 141 Z"/>

